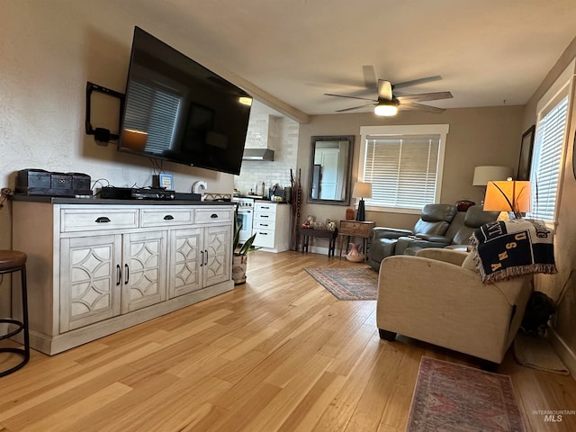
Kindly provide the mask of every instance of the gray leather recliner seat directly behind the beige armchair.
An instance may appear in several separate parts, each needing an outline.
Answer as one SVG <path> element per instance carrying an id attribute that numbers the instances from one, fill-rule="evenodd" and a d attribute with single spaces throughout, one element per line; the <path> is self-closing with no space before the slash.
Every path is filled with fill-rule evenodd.
<path id="1" fill-rule="evenodd" d="M 473 232 L 498 218 L 500 211 L 484 211 L 482 205 L 473 205 L 467 211 L 458 211 L 444 236 L 416 234 L 398 238 L 394 255 L 416 255 L 426 247 L 450 247 L 466 250 Z"/>

